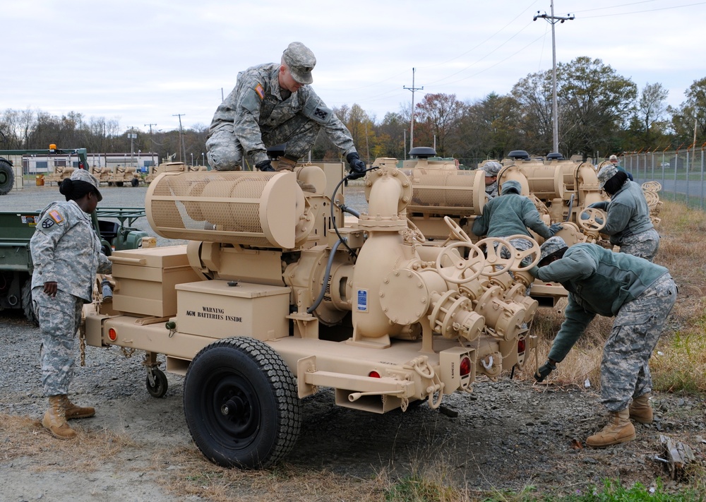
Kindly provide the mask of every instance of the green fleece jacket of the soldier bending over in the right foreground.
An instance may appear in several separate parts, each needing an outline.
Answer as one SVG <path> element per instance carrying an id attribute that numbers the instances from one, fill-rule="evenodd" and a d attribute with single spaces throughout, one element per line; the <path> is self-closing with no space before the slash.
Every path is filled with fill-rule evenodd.
<path id="1" fill-rule="evenodd" d="M 615 316 L 626 301 L 639 297 L 668 272 L 638 256 L 614 253 L 597 244 L 575 244 L 563 258 L 532 268 L 534 277 L 561 282 L 569 292 L 565 318 L 551 345 L 549 359 L 563 361 L 596 314 Z"/>

